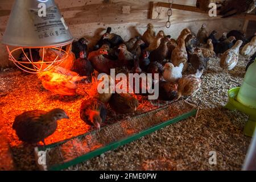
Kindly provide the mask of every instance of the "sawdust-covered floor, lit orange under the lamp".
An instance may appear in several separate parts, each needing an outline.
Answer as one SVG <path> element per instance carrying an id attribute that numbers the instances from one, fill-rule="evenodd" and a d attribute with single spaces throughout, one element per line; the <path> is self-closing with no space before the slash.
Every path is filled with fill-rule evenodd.
<path id="1" fill-rule="evenodd" d="M 185 119 L 69 169 L 240 170 L 251 139 L 242 133 L 248 117 L 240 111 L 229 111 L 222 106 L 228 100 L 228 90 L 240 86 L 245 66 L 246 62 L 241 59 L 233 71 L 224 72 L 219 67 L 218 59 L 211 60 L 208 71 L 202 77 L 200 91 L 188 100 L 200 107 L 197 119 Z M 25 110 L 49 110 L 61 106 L 71 120 L 62 120 L 57 131 L 46 139 L 46 143 L 83 134 L 90 127 L 79 119 L 77 111 L 82 100 L 87 97 L 86 86 L 80 85 L 78 91 L 76 97 L 60 99 L 44 90 L 35 76 L 0 78 L 0 106 L 17 169 L 38 168 L 34 160 L 34 146 L 20 142 L 11 129 L 15 115 Z M 138 112 L 156 109 L 155 105 L 139 99 L 141 108 Z M 110 111 L 109 122 L 112 122 L 112 114 Z M 116 116 L 117 119 L 122 117 L 127 115 Z M 76 122 L 71 125 L 71 121 Z M 209 165 L 210 151 L 217 152 L 217 165 Z"/>

